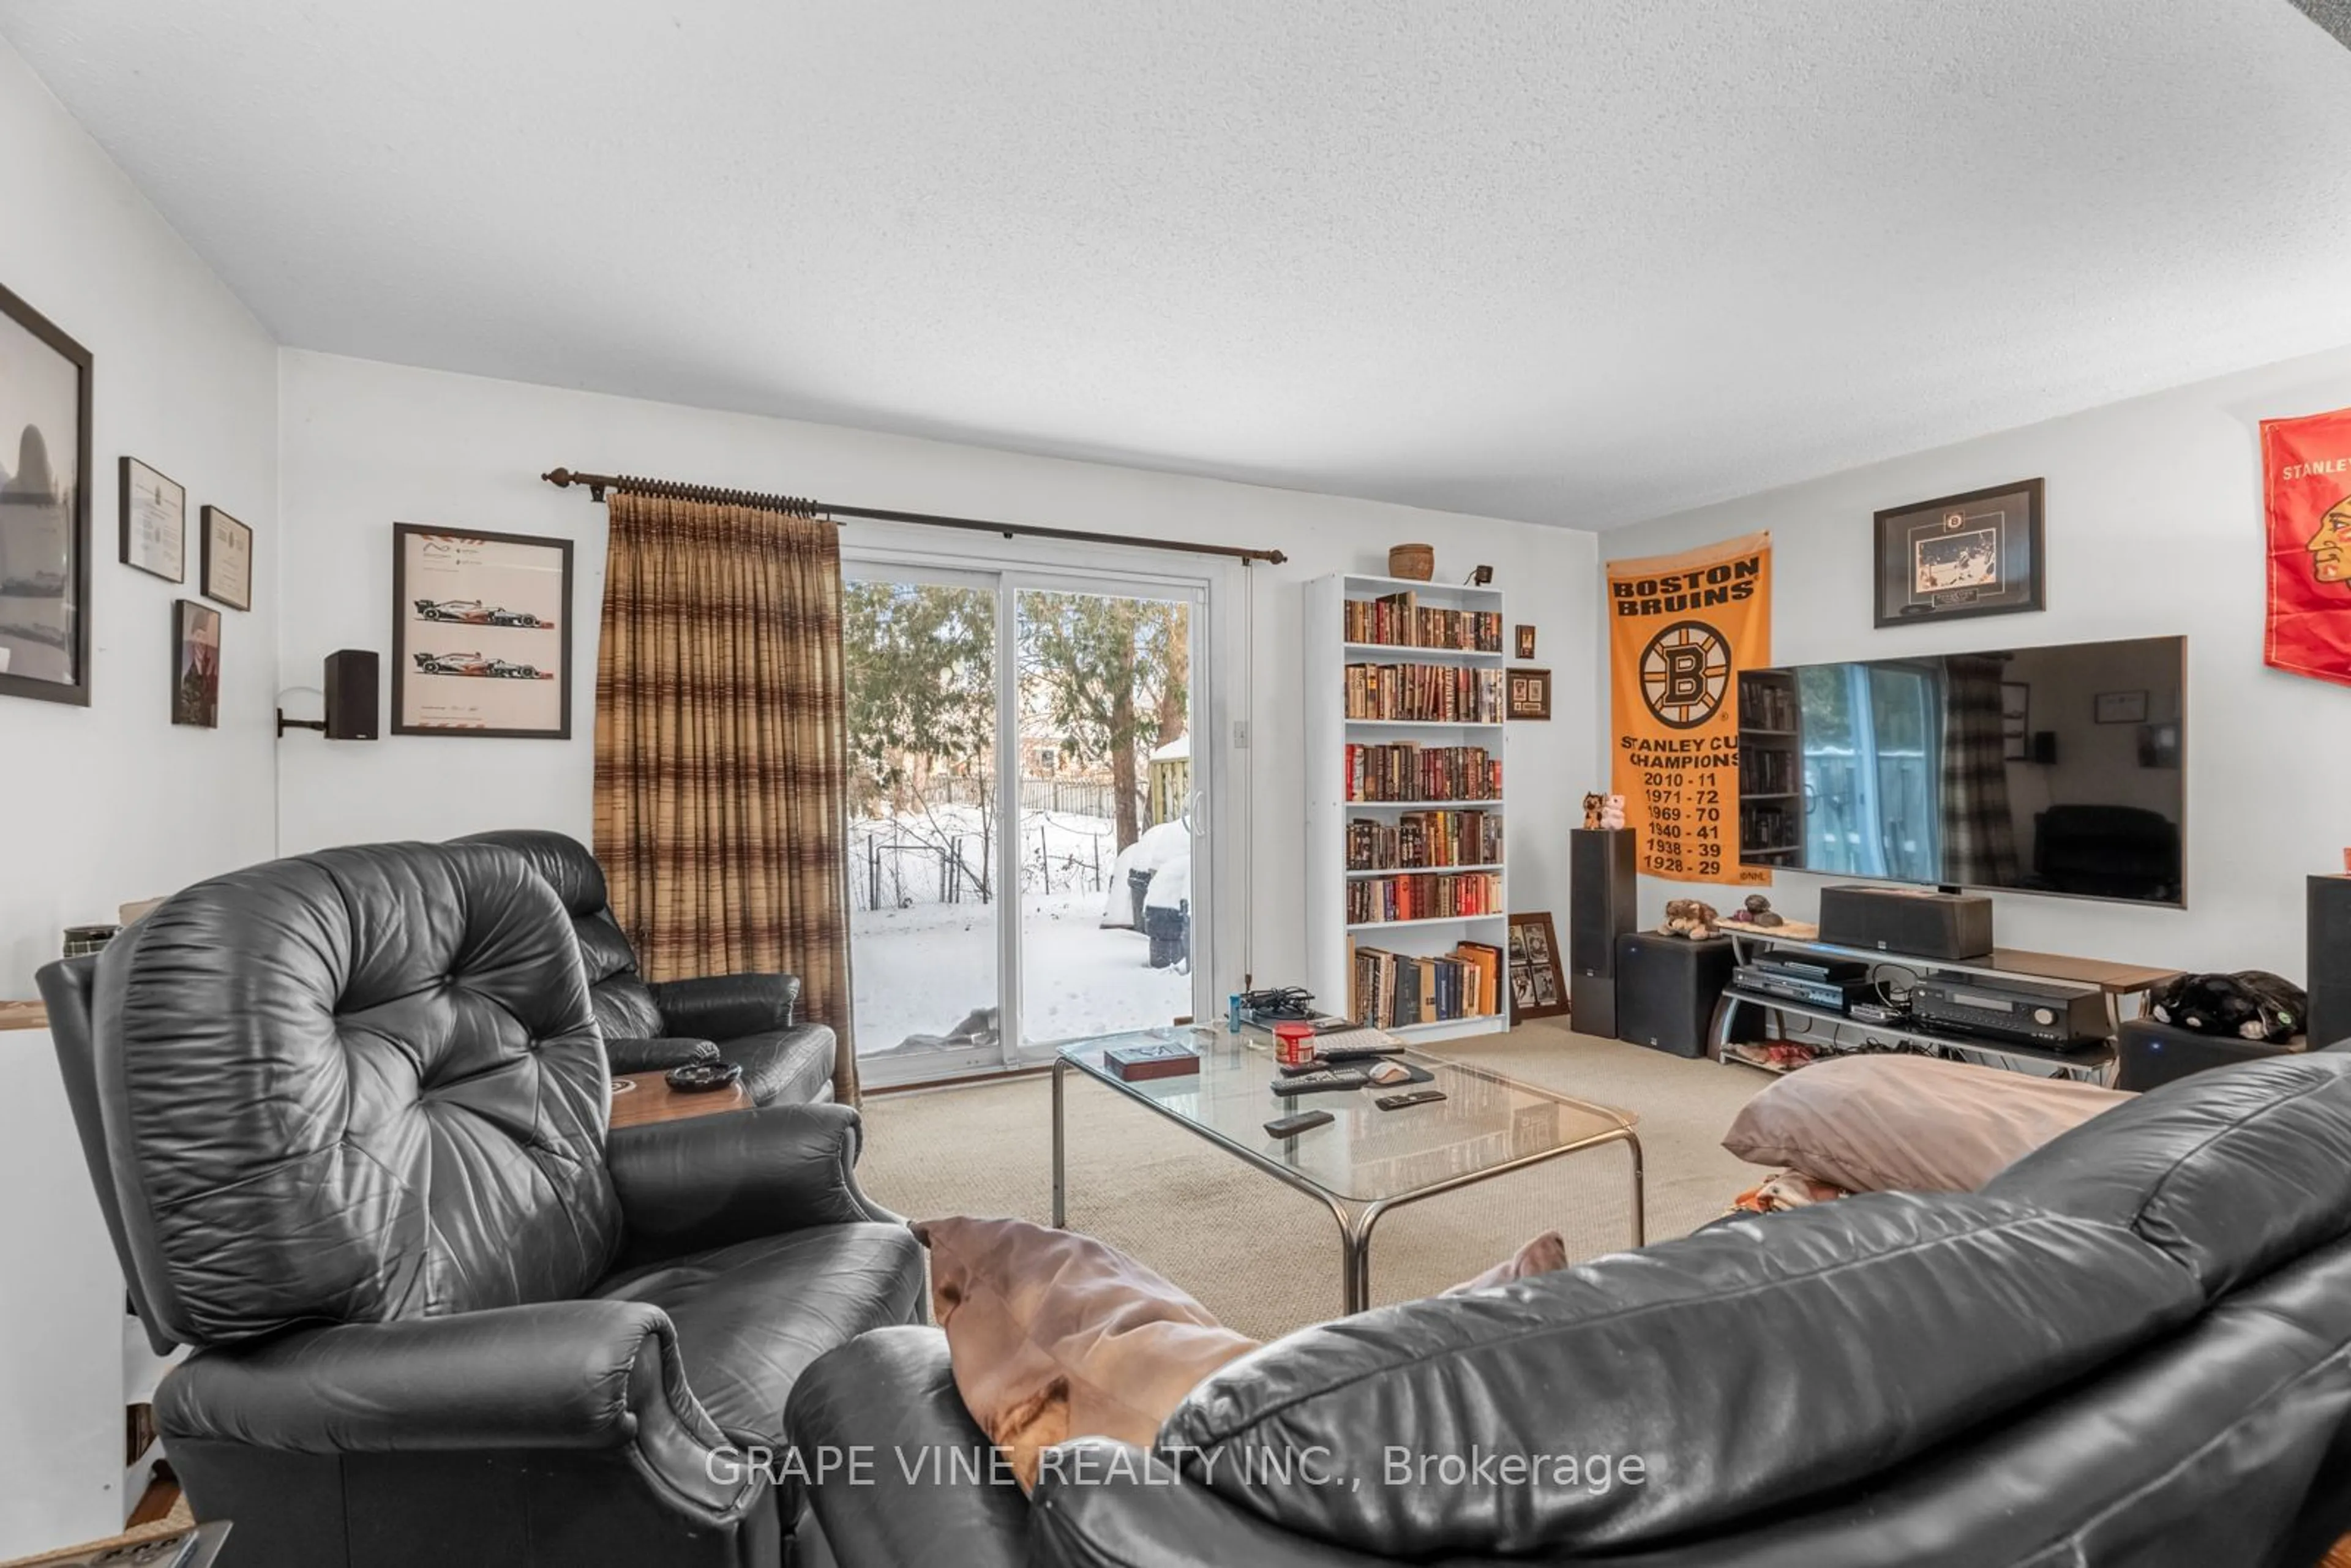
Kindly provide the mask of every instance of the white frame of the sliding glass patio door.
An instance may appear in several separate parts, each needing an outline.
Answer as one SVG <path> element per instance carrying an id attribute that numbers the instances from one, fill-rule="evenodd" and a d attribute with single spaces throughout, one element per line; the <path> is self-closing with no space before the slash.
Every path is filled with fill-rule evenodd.
<path id="1" fill-rule="evenodd" d="M 997 595 L 997 743 L 994 743 L 994 790 L 997 820 L 1004 832 L 992 846 L 997 882 L 997 1051 L 964 1048 L 907 1058 L 907 1072 L 868 1072 L 889 1058 L 858 1058 L 858 1070 L 868 1084 L 936 1081 L 955 1077 L 987 1077 L 1034 1067 L 1051 1060 L 1053 1044 L 1023 1039 L 1023 931 L 1020 931 L 1020 661 L 1018 661 L 1018 614 L 1020 592 L 1093 592 L 1128 599 L 1183 599 L 1192 607 L 1192 799 L 1206 820 L 1194 830 L 1194 842 L 1204 839 L 1206 853 L 1192 858 L 1192 905 L 1206 910 L 1208 919 L 1192 922 L 1192 1013 L 1215 1016 L 1215 994 L 1230 964 L 1239 957 L 1237 943 L 1220 940 L 1234 931 L 1223 917 L 1220 875 L 1230 860 L 1232 839 L 1225 823 L 1232 818 L 1227 804 L 1232 790 L 1225 780 L 1223 757 L 1213 736 L 1225 733 L 1227 696 L 1218 679 L 1218 644 L 1225 616 L 1220 614 L 1223 574 L 1213 564 L 1168 562 L 1154 557 L 1150 567 L 1128 559 L 1128 552 L 1100 548 L 1037 548 L 1013 552 L 959 552 L 936 545 L 915 545 L 893 538 L 893 529 L 842 529 L 842 578 L 844 581 L 915 581 L 955 588 L 987 588 Z M 1037 541 L 1044 545 L 1044 541 Z M 1234 877 L 1234 886 L 1239 879 Z M 851 940 L 851 969 L 856 964 Z M 851 1006 L 856 983 L 851 976 Z"/>

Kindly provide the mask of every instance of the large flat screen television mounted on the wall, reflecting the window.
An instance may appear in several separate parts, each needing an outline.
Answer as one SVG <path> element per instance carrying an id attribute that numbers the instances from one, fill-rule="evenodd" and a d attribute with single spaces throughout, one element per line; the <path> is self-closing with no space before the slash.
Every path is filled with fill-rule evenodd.
<path id="1" fill-rule="evenodd" d="M 2184 637 L 1749 670 L 1740 863 L 2182 905 L 2184 675 Z"/>

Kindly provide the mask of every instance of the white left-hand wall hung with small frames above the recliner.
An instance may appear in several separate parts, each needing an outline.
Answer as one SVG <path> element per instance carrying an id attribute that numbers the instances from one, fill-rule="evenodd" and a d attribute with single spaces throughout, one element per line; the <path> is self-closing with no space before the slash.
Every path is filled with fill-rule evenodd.
<path id="1" fill-rule="evenodd" d="M 94 357 L 92 705 L 0 696 L 0 997 L 31 997 L 63 926 L 270 853 L 277 348 L 5 42 L 0 190 L 0 284 Z M 122 454 L 188 487 L 188 583 L 120 564 Z M 216 731 L 169 708 L 205 503 L 259 552 L 254 609 L 221 609 Z"/>

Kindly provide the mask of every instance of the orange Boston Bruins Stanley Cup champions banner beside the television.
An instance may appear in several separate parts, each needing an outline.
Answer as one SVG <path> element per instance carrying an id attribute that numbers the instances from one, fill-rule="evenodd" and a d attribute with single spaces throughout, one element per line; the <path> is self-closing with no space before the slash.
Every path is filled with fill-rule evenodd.
<path id="1" fill-rule="evenodd" d="M 1768 886 L 1740 867 L 1740 670 L 1770 663 L 1770 534 L 1608 562 L 1615 792 L 1641 870 Z"/>

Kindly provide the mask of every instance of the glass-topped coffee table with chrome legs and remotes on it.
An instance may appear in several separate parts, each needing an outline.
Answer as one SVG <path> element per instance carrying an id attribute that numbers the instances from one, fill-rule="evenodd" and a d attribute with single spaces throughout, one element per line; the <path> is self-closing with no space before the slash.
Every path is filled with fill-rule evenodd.
<path id="1" fill-rule="evenodd" d="M 1192 1046 L 1199 1072 L 1126 1081 L 1103 1063 L 1103 1053 L 1117 1046 L 1150 1041 Z M 1065 1084 L 1070 1072 L 1081 1072 L 1274 1180 L 1319 1197 L 1338 1220 L 1347 1312 L 1371 1305 L 1371 1232 L 1389 1208 L 1606 1143 L 1622 1143 L 1632 1154 L 1632 1244 L 1641 1246 L 1641 1140 L 1632 1114 L 1420 1051 L 1387 1060 L 1420 1067 L 1432 1081 L 1277 1095 L 1274 1046 L 1255 1030 L 1166 1027 L 1070 1041 L 1053 1058 L 1053 1225 L 1067 1220 Z M 1373 1105 L 1373 1098 L 1404 1088 L 1441 1088 L 1446 1098 L 1406 1110 Z M 1265 1133 L 1267 1121 L 1305 1110 L 1326 1110 L 1333 1121 L 1293 1138 Z"/>

